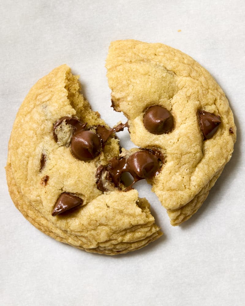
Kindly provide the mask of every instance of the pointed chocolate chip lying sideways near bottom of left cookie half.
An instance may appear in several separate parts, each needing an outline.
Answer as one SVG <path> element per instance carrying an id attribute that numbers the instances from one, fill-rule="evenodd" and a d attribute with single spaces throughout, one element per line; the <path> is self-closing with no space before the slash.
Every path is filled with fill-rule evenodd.
<path id="1" fill-rule="evenodd" d="M 71 208 L 81 205 L 83 200 L 78 196 L 74 196 L 68 192 L 63 192 L 55 203 L 55 207 L 52 211 L 52 216 L 61 214 Z"/>

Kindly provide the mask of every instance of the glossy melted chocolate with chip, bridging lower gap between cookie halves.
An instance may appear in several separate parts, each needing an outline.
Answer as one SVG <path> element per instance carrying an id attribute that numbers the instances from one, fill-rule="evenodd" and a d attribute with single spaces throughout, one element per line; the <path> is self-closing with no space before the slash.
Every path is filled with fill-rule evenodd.
<path id="1" fill-rule="evenodd" d="M 107 166 L 100 166 L 96 173 L 96 183 L 100 190 L 107 191 L 102 181 L 102 175 L 104 171 L 109 173 L 109 177 L 106 176 L 107 181 L 112 181 L 115 187 L 119 186 L 120 178 L 124 172 L 129 172 L 134 181 L 125 189 L 128 191 L 132 189 L 132 185 L 145 178 L 151 178 L 160 172 L 159 160 L 164 163 L 164 157 L 158 150 L 142 149 L 130 155 L 128 159 L 124 157 L 121 159 L 111 159 Z"/>

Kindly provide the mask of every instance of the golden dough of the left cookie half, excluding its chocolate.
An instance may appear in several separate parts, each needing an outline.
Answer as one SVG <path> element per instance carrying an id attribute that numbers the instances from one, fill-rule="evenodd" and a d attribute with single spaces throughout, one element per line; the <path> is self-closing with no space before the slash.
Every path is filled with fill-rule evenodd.
<path id="1" fill-rule="evenodd" d="M 115 188 L 103 194 L 96 185 L 97 168 L 119 155 L 118 139 L 111 135 L 86 161 L 71 151 L 74 131 L 69 119 L 61 121 L 55 140 L 54 125 L 63 117 L 87 123 L 85 129 L 93 134 L 98 125 L 108 127 L 80 94 L 77 79 L 62 65 L 40 79 L 26 96 L 9 140 L 9 193 L 25 218 L 58 241 L 109 255 L 136 250 L 162 234 L 149 203 L 139 199 L 136 190 Z M 64 210 L 64 203 L 57 199 L 63 195 L 66 201 L 67 194 L 71 202 L 78 199 L 78 206 L 55 215 L 60 207 Z"/>

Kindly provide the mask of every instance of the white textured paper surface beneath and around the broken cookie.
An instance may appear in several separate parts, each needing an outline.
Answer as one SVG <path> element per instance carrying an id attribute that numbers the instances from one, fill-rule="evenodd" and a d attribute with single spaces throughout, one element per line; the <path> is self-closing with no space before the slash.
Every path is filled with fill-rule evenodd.
<path id="1" fill-rule="evenodd" d="M 245 305 L 243 1 L 0 1 L 2 305 Z M 181 32 L 178 32 L 181 30 Z M 82 252 L 36 230 L 6 185 L 7 143 L 17 110 L 36 81 L 67 63 L 108 124 L 105 58 L 115 39 L 161 42 L 189 54 L 220 84 L 238 128 L 231 161 L 202 208 L 172 227 L 144 182 L 141 196 L 165 235 L 140 251 Z M 121 136 L 121 135 L 120 135 Z M 121 143 L 129 148 L 128 133 Z"/>

